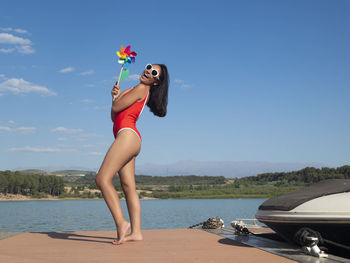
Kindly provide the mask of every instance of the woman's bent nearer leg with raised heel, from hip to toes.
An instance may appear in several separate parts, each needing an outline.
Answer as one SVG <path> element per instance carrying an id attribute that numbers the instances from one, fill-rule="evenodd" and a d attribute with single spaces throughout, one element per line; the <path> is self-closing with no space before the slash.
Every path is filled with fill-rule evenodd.
<path id="1" fill-rule="evenodd" d="M 124 238 L 130 223 L 125 220 L 117 191 L 112 179 L 116 173 L 140 152 L 140 141 L 133 131 L 120 132 L 109 148 L 101 168 L 96 176 L 96 184 L 101 189 L 102 195 L 115 221 L 119 240 L 117 244 L 124 242 Z"/>

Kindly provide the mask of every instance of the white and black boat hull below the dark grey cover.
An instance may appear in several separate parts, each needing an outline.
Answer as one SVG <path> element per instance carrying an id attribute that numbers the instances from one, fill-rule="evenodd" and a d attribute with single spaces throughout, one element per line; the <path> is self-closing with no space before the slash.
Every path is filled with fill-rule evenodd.
<path id="1" fill-rule="evenodd" d="M 268 208 L 270 206 L 261 205 L 255 217 L 289 242 L 295 242 L 295 234 L 301 228 L 310 228 L 323 239 L 350 247 L 350 192 L 316 197 L 291 210 Z M 334 254 L 339 251 L 343 256 L 350 254 L 349 250 L 327 242 L 323 246 L 329 252 L 335 251 Z"/>

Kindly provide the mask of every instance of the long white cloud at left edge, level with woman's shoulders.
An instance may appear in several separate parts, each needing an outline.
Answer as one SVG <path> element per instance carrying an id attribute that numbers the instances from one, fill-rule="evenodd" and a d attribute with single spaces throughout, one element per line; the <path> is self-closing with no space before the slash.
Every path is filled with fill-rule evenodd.
<path id="1" fill-rule="evenodd" d="M 13 94 L 39 93 L 41 95 L 56 96 L 57 94 L 45 86 L 36 85 L 24 79 L 7 79 L 0 83 L 0 91 L 9 91 Z"/>

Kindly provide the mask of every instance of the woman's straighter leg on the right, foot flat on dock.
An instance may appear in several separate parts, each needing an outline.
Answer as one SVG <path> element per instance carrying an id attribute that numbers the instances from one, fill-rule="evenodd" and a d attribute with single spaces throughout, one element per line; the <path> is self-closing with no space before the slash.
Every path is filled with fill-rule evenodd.
<path id="1" fill-rule="evenodd" d="M 132 229 L 131 234 L 125 237 L 125 241 L 143 240 L 141 233 L 141 204 L 135 184 L 135 157 L 119 170 L 119 177 L 128 205 Z"/>

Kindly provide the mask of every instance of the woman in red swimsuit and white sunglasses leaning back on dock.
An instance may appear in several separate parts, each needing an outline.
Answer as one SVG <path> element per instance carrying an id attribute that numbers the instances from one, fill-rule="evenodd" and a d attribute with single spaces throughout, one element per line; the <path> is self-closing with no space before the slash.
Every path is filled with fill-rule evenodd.
<path id="1" fill-rule="evenodd" d="M 141 205 L 135 186 L 135 158 L 141 150 L 141 135 L 136 129 L 136 120 L 145 105 L 156 116 L 164 117 L 168 104 L 169 76 L 163 64 L 148 64 L 140 77 L 140 83 L 120 93 L 118 83 L 112 89 L 111 118 L 114 122 L 115 140 L 109 148 L 96 176 L 96 185 L 114 218 L 117 239 L 112 244 L 143 240 L 141 233 Z M 131 221 L 124 218 L 118 194 L 112 179 L 119 173 L 120 182 Z"/>

